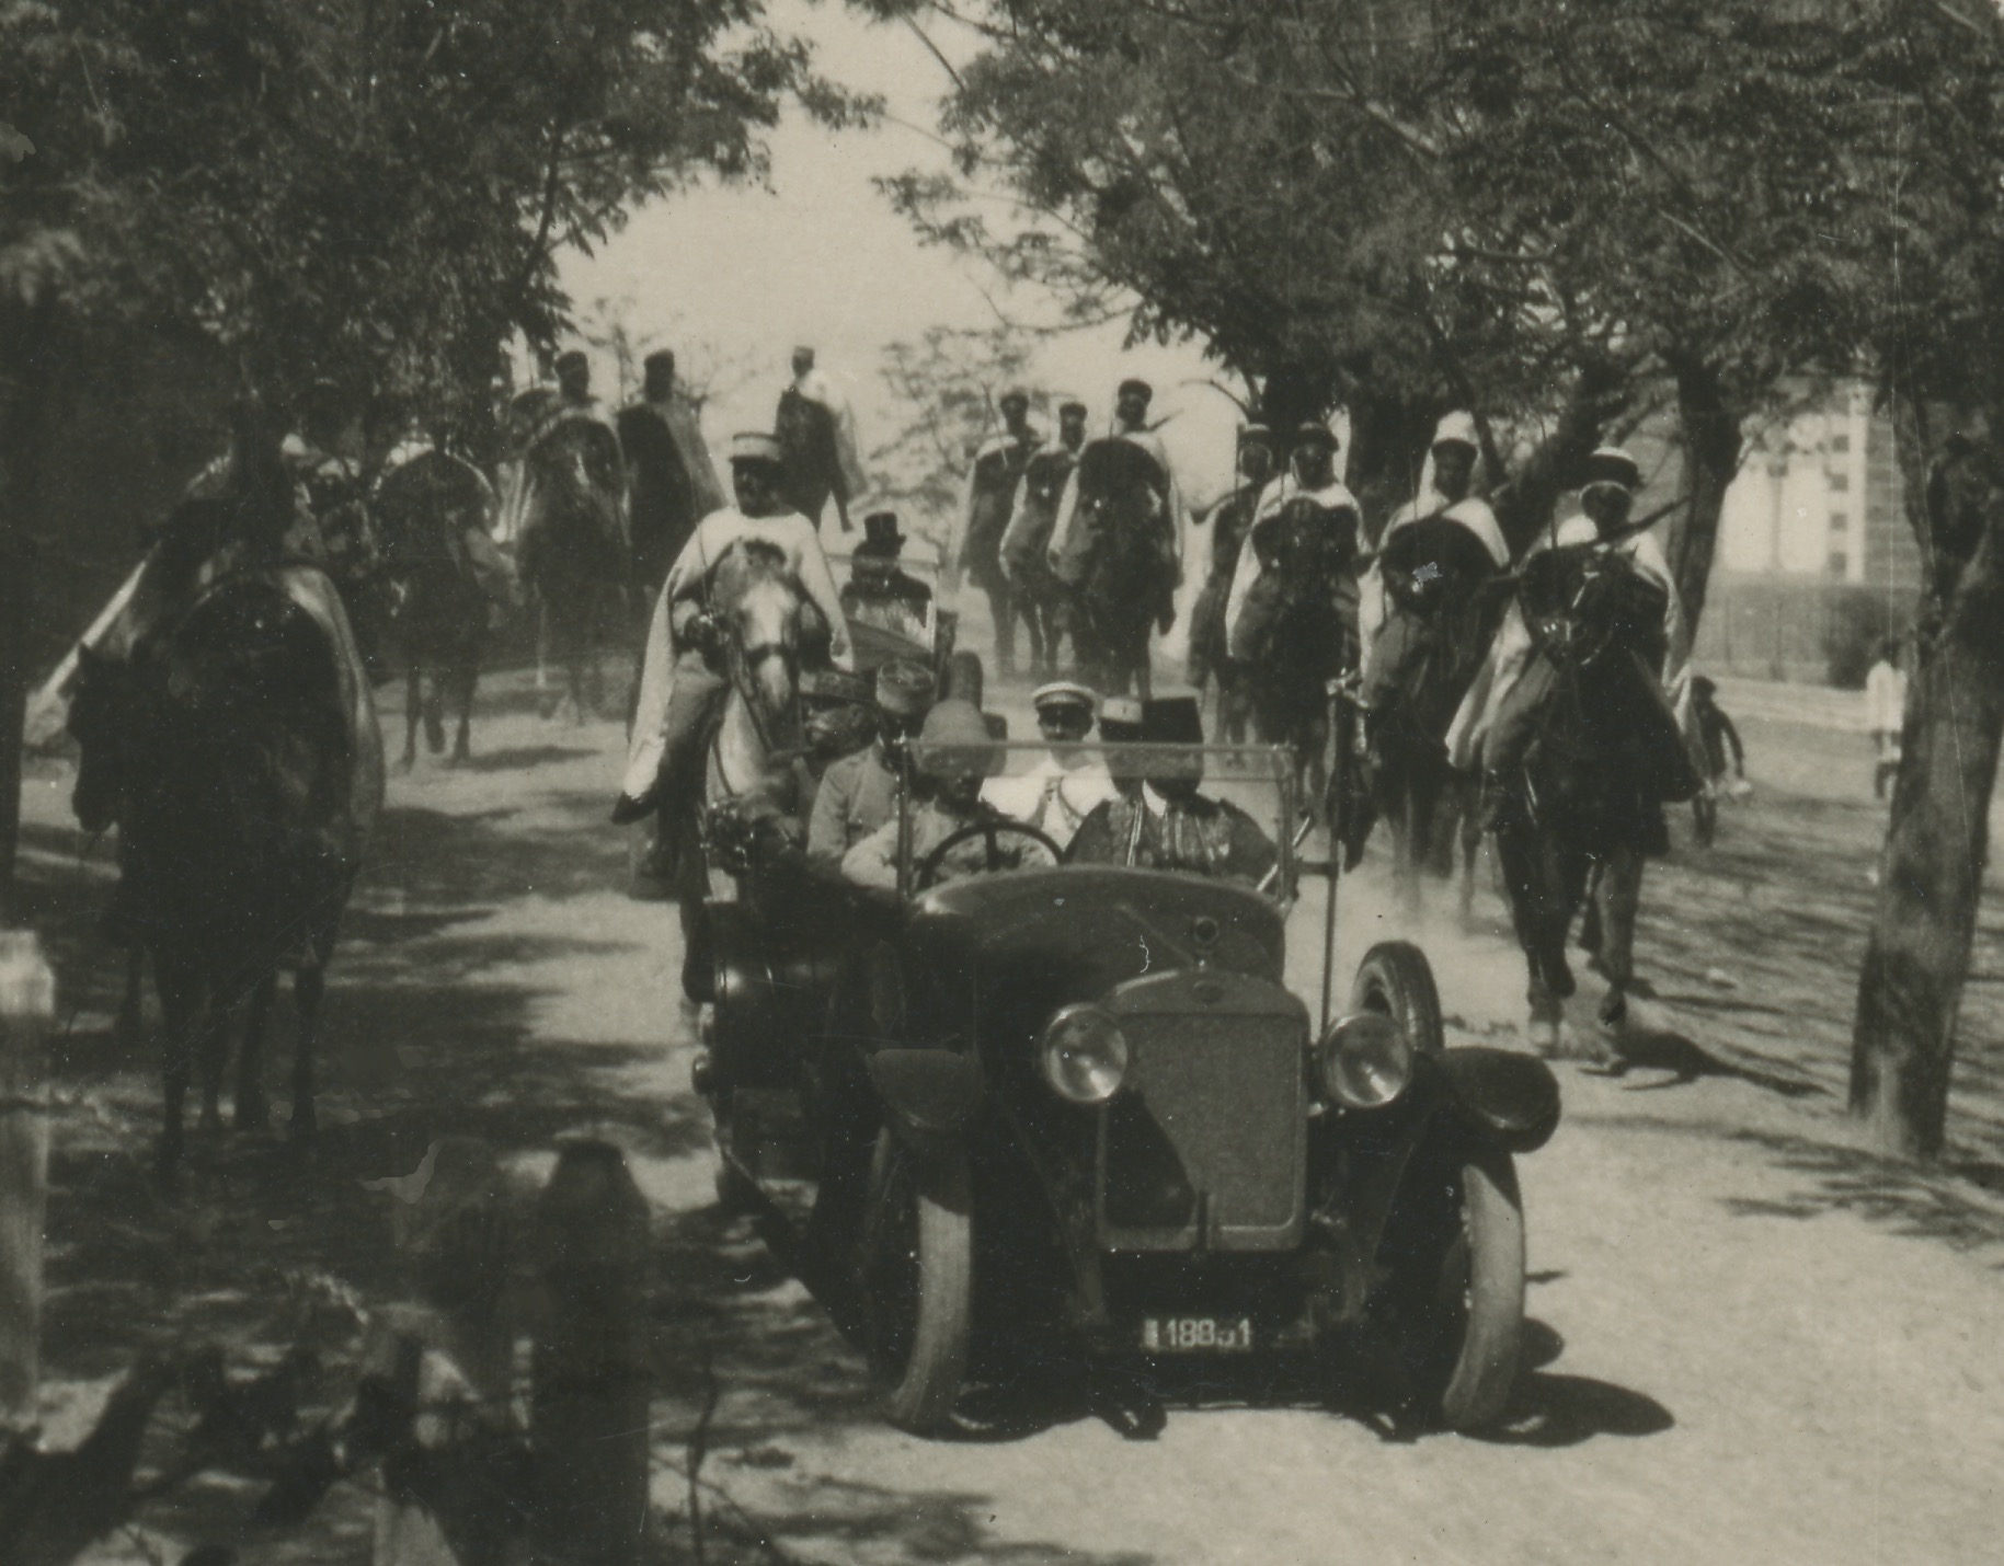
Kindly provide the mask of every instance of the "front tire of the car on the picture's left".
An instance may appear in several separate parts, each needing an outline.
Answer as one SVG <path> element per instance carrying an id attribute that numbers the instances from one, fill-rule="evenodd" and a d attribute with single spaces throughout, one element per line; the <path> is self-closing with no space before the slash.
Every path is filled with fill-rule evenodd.
<path id="1" fill-rule="evenodd" d="M 954 1428 L 974 1316 L 968 1155 L 918 1157 L 888 1129 L 870 1159 L 862 1294 L 884 1418 L 918 1436 Z"/>

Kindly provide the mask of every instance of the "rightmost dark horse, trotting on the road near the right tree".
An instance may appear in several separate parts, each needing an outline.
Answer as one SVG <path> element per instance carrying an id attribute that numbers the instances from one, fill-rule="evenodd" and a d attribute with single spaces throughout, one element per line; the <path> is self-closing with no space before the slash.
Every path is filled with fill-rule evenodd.
<path id="1" fill-rule="evenodd" d="M 1505 711 L 1523 721 L 1521 757 L 1491 757 L 1507 791 L 1497 857 L 1531 987 L 1533 1041 L 1559 1041 L 1573 973 L 1565 935 L 1589 895 L 1595 959 L 1607 977 L 1601 1021 L 1625 1017 L 1641 865 L 1667 851 L 1663 803 L 1695 775 L 1663 699 L 1663 587 L 1623 555 L 1549 549 L 1525 561 L 1517 601 L 1531 633 Z M 1509 719 L 1499 713 L 1489 745 Z M 1501 765 L 1499 765 L 1501 763 Z"/>

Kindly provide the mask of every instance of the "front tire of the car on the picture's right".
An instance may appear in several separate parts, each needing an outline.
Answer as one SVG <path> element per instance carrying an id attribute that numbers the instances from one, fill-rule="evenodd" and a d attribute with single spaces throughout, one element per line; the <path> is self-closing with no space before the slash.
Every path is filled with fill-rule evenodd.
<path id="1" fill-rule="evenodd" d="M 1523 1200 L 1501 1147 L 1461 1161 L 1457 1222 L 1431 1262 L 1401 1280 L 1401 1358 L 1429 1424 L 1493 1426 L 1517 1384 L 1523 1340 Z"/>

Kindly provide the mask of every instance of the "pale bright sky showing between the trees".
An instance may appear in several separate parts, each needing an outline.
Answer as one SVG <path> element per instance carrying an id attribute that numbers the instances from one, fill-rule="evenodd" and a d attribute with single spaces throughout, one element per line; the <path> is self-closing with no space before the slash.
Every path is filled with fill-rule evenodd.
<path id="1" fill-rule="evenodd" d="M 707 184 L 651 202 L 597 254 L 565 256 L 563 284 L 585 318 L 607 300 L 645 346 L 671 346 L 691 368 L 723 366 L 703 409 L 713 451 L 733 431 L 772 429 L 796 344 L 816 346 L 868 451 L 896 419 L 878 378 L 890 342 L 918 340 L 934 324 L 992 326 L 998 310 L 1050 320 L 1056 308 L 1048 296 L 1008 292 L 978 262 L 920 244 L 872 186 L 872 176 L 944 158 L 928 132 L 950 80 L 926 44 L 902 24 L 868 22 L 832 0 L 774 0 L 768 16 L 814 40 L 826 76 L 882 94 L 884 124 L 832 132 L 790 110 L 770 138 L 770 188 Z M 948 22 L 928 24 L 928 34 L 954 60 L 974 48 Z M 1186 384 L 1212 372 L 1198 348 L 1124 352 L 1120 338 L 1118 324 L 1052 338 L 1038 350 L 1034 380 L 1078 395 L 1098 421 L 1122 376 L 1146 376 L 1154 415 L 1174 415 L 1162 435 L 1184 493 L 1222 491 L 1238 415 L 1218 393 Z M 611 393 L 613 362 L 595 360 L 593 378 Z"/>

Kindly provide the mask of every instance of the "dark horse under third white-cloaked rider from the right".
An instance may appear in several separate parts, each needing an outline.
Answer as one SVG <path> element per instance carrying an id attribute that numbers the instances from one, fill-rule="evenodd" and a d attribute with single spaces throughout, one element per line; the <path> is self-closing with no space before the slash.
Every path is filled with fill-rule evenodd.
<path id="1" fill-rule="evenodd" d="M 1261 575 L 1232 627 L 1252 725 L 1295 753 L 1305 799 L 1329 787 L 1329 681 L 1357 663 L 1357 513 L 1297 495 L 1259 521 L 1244 543 Z"/>

